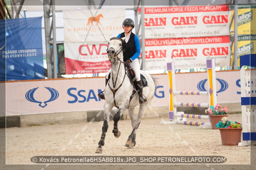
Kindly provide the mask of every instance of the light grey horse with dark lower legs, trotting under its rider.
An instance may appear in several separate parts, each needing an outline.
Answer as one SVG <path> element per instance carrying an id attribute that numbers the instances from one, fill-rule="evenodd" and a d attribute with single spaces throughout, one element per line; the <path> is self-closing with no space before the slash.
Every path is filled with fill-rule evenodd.
<path id="1" fill-rule="evenodd" d="M 148 73 L 141 70 L 141 75 L 143 75 L 147 81 L 147 86 L 143 88 L 143 95 L 147 98 L 145 103 L 139 104 L 139 95 L 135 91 L 133 84 L 130 82 L 129 77 L 125 73 L 125 63 L 123 62 L 123 52 L 122 52 L 122 42 L 124 38 L 112 38 L 108 42 L 108 58 L 111 61 L 111 73 L 108 84 L 105 88 L 105 104 L 104 104 L 104 123 L 102 126 L 102 135 L 99 141 L 99 146 L 96 149 L 95 153 L 102 153 L 102 146 L 104 146 L 104 139 L 106 136 L 106 132 L 108 130 L 108 121 L 110 117 L 110 113 L 113 107 L 117 107 L 118 111 L 113 117 L 114 128 L 113 133 L 115 137 L 119 137 L 121 135 L 120 131 L 117 128 L 117 122 L 119 121 L 120 116 L 126 111 L 128 108 L 128 115 L 131 119 L 131 125 L 133 127 L 133 131 L 129 135 L 125 146 L 128 148 L 133 148 L 135 146 L 135 137 L 136 137 L 136 129 L 139 127 L 141 117 L 146 111 L 147 107 L 152 107 L 151 101 L 154 97 L 154 93 L 156 90 L 157 82 L 154 78 L 152 78 Z M 145 82 L 143 78 L 142 81 Z M 133 95 L 132 99 L 130 97 Z M 135 107 L 139 105 L 139 112 L 137 117 L 135 115 Z"/>

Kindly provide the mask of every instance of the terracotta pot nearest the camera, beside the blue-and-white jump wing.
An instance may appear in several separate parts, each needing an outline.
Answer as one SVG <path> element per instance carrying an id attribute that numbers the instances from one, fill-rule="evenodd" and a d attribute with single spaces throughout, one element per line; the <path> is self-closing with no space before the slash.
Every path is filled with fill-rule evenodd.
<path id="1" fill-rule="evenodd" d="M 238 145 L 241 142 L 243 128 L 217 128 L 220 130 L 222 145 Z"/>

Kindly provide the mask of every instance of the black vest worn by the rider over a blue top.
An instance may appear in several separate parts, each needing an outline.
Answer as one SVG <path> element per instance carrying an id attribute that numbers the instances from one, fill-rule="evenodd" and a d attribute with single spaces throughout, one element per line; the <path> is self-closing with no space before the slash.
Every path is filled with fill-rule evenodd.
<path id="1" fill-rule="evenodd" d="M 123 41 L 122 43 L 124 61 L 131 58 L 136 53 L 134 36 L 135 34 L 131 32 L 128 42 Z M 125 37 L 125 32 L 121 33 L 121 38 L 123 37 Z"/>

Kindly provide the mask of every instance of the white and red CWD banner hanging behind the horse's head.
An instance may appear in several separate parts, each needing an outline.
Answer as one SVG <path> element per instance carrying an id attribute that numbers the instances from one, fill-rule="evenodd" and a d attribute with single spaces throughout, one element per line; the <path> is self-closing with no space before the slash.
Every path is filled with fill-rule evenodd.
<path id="1" fill-rule="evenodd" d="M 66 74 L 106 73 L 111 67 L 108 44 L 64 42 Z"/>

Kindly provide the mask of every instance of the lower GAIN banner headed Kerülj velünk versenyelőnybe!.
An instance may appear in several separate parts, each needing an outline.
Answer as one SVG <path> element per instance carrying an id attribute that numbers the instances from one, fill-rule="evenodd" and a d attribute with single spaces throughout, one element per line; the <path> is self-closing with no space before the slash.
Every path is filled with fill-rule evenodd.
<path id="1" fill-rule="evenodd" d="M 175 69 L 206 68 L 206 58 L 216 59 L 216 67 L 230 64 L 229 36 L 177 39 L 146 39 L 145 69 L 166 70 L 175 59 Z"/>

